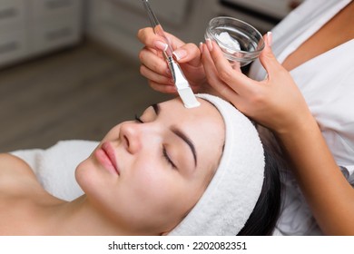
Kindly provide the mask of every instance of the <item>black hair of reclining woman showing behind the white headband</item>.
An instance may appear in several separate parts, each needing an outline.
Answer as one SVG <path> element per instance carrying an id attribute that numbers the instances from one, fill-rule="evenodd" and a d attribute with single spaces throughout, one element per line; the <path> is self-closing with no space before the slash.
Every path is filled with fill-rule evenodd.
<path id="1" fill-rule="evenodd" d="M 264 147 L 264 159 L 264 181 L 260 198 L 238 236 L 271 235 L 280 216 L 280 166 L 266 147 Z"/>

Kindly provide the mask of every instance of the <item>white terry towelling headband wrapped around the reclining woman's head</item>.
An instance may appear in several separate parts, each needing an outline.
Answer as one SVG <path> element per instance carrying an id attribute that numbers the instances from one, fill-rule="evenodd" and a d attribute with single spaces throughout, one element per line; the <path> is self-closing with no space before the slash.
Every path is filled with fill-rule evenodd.
<path id="1" fill-rule="evenodd" d="M 251 121 L 231 103 L 209 94 L 197 96 L 221 113 L 225 146 L 202 198 L 169 235 L 237 235 L 261 194 L 265 165 L 261 139 Z"/>

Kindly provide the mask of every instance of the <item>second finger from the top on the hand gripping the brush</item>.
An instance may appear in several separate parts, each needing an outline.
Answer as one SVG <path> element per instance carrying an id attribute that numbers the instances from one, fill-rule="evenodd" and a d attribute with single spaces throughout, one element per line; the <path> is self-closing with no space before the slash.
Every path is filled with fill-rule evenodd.
<path id="1" fill-rule="evenodd" d="M 144 47 L 139 53 L 139 60 L 147 69 L 162 76 L 171 78 L 168 64 L 160 54 L 154 54 L 150 49 Z"/>

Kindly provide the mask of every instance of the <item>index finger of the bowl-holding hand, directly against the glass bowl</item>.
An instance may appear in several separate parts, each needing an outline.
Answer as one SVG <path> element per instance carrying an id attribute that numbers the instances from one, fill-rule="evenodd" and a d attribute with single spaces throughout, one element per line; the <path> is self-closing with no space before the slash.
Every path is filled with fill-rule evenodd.
<path id="1" fill-rule="evenodd" d="M 239 94 L 250 93 L 253 89 L 252 80 L 243 73 L 232 69 L 229 61 L 223 56 L 221 49 L 215 42 L 207 42 L 211 59 L 221 80 L 228 83 L 231 88 Z"/>

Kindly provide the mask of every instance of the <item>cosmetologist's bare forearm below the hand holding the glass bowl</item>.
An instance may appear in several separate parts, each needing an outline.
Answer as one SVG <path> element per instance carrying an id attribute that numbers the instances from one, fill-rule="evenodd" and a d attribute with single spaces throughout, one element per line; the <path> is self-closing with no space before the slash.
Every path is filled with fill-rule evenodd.
<path id="1" fill-rule="evenodd" d="M 334 161 L 312 117 L 296 130 L 277 133 L 321 230 L 354 235 L 354 190 Z"/>

